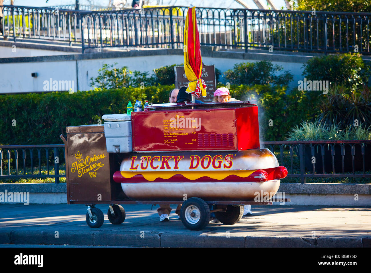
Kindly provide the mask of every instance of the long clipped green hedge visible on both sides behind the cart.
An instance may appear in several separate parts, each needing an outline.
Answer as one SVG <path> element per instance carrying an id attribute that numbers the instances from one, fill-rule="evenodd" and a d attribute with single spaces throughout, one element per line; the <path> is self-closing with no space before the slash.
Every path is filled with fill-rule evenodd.
<path id="1" fill-rule="evenodd" d="M 126 113 L 128 100 L 167 103 L 169 91 L 173 88 L 174 85 L 158 85 L 72 94 L 2 95 L 0 144 L 58 144 L 61 143 L 59 135 L 66 134 L 66 126 L 98 124 L 104 114 Z M 263 140 L 283 140 L 293 126 L 319 114 L 311 91 L 294 89 L 286 92 L 286 87 L 279 85 L 231 85 L 230 91 L 236 99 L 247 100 L 250 97 L 256 100 L 252 103 L 259 107 L 260 137 Z"/>

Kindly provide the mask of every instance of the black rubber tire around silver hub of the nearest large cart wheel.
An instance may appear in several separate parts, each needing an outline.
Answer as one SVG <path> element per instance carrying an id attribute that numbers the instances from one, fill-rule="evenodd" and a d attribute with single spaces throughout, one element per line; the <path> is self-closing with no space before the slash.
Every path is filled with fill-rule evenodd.
<path id="1" fill-rule="evenodd" d="M 196 224 L 192 224 L 186 220 L 185 211 L 189 206 L 195 206 L 200 211 L 200 219 Z M 180 218 L 183 225 L 190 230 L 202 230 L 204 229 L 210 221 L 210 209 L 206 202 L 198 197 L 192 197 L 187 201 L 184 201 L 182 208 L 180 209 Z"/>

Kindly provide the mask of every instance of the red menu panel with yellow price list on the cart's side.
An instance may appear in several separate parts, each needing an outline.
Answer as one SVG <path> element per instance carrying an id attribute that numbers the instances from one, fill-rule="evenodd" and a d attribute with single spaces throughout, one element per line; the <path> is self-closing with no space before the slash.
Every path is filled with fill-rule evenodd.
<path id="1" fill-rule="evenodd" d="M 235 150 L 234 123 L 225 109 L 134 112 L 133 151 Z"/>

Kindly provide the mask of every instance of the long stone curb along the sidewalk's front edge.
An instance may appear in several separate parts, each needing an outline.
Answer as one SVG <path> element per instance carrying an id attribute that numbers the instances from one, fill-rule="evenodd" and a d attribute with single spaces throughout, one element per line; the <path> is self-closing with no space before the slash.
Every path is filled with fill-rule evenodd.
<path id="1" fill-rule="evenodd" d="M 229 236 L 229 237 L 228 237 Z M 131 247 L 371 247 L 371 237 L 253 237 L 233 233 L 156 233 L 151 231 L 3 231 L 0 244 L 55 244 Z"/>

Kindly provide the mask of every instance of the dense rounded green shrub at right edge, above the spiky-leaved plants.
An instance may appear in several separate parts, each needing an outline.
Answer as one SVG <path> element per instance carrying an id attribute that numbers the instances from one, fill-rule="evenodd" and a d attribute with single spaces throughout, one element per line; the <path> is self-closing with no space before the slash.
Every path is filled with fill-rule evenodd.
<path id="1" fill-rule="evenodd" d="M 329 81 L 346 87 L 359 88 L 367 84 L 370 68 L 360 54 L 335 54 L 313 57 L 303 64 L 303 76 L 312 81 Z"/>

